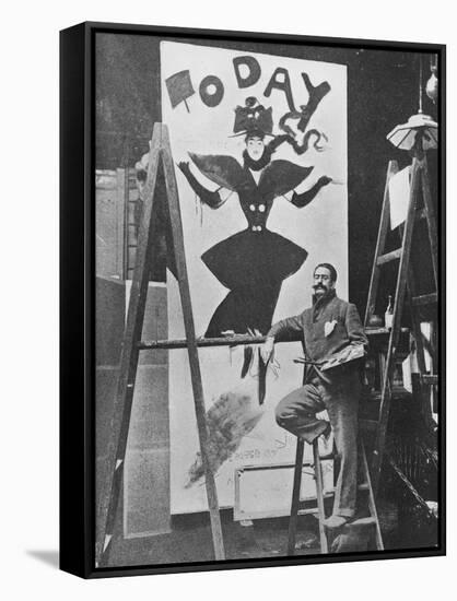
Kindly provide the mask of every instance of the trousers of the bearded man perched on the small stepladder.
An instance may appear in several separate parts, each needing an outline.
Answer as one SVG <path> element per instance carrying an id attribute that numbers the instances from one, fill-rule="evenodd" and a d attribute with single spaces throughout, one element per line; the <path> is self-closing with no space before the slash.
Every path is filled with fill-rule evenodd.
<path id="1" fill-rule="evenodd" d="M 358 491 L 358 413 L 361 378 L 359 369 L 339 369 L 331 381 L 317 375 L 284 397 L 278 404 L 278 424 L 306 443 L 323 434 L 328 422 L 316 413 L 327 410 L 340 458 L 333 515 L 353 517 Z"/>

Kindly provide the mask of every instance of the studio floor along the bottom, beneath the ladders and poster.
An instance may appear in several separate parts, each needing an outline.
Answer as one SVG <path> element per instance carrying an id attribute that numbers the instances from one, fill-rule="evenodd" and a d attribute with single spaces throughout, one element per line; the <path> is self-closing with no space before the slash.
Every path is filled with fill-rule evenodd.
<path id="1" fill-rule="evenodd" d="M 398 516 L 397 516 L 398 517 Z M 288 547 L 288 518 L 255 520 L 250 526 L 233 521 L 232 511 L 222 511 L 222 529 L 226 559 L 253 559 L 284 557 Z M 436 521 L 421 520 L 417 527 L 414 511 L 407 511 L 394 526 L 384 520 L 383 532 L 386 550 L 430 547 L 436 544 Z M 415 526 L 413 526 L 413 522 Z M 364 553 L 372 549 L 370 539 L 352 541 L 344 552 Z M 172 531 L 155 537 L 124 539 L 115 534 L 110 565 L 156 565 L 213 561 L 209 517 L 204 514 L 176 516 Z M 331 541 L 329 541 L 331 544 Z M 374 549 L 374 547 L 373 547 Z M 313 516 L 298 519 L 296 555 L 320 553 L 318 525 Z"/>

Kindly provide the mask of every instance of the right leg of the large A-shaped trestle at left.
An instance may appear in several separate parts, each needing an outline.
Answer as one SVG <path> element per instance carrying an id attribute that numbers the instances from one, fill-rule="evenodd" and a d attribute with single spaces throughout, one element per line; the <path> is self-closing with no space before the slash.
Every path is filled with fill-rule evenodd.
<path id="1" fill-rule="evenodd" d="M 189 281 L 185 259 L 183 223 L 180 216 L 178 190 L 175 169 L 169 145 L 168 130 L 162 125 L 162 161 L 165 175 L 165 186 L 168 198 L 169 222 L 172 226 L 173 247 L 176 260 L 176 273 L 179 284 L 180 300 L 183 306 L 184 325 L 186 330 L 187 350 L 189 355 L 190 375 L 194 390 L 197 427 L 200 440 L 201 460 L 206 476 L 208 506 L 210 510 L 211 532 L 215 559 L 225 559 L 224 543 L 222 538 L 221 517 L 219 514 L 218 491 L 212 473 L 208 452 L 208 426 L 203 399 L 203 386 L 201 382 L 200 362 L 196 340 L 192 304 L 190 298 Z"/>

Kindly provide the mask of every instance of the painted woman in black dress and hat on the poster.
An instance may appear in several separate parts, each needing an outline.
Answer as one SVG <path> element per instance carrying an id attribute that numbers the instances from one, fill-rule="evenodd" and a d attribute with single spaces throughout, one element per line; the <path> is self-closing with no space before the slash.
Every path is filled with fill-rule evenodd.
<path id="1" fill-rule="evenodd" d="M 302 154 L 307 149 L 307 132 L 304 145 L 298 148 L 290 134 L 271 135 L 271 107 L 265 109 L 256 98 L 247 98 L 246 107 L 235 110 L 235 134 L 245 135 L 246 149 L 243 165 L 232 156 L 197 155 L 189 153 L 198 169 L 220 188 L 215 191 L 202 186 L 190 170 L 189 164 L 179 163 L 192 190 L 200 201 L 211 209 L 219 209 L 227 199 L 221 197 L 221 188 L 238 195 L 247 227 L 222 240 L 201 259 L 215 278 L 228 288 L 228 294 L 215 309 L 206 337 L 220 337 L 226 330 L 246 333 L 248 330 L 268 331 L 271 326 L 282 282 L 304 263 L 307 252 L 296 244 L 267 228 L 267 221 L 274 199 L 292 192 L 291 202 L 297 208 L 306 207 L 318 191 L 331 179 L 320 177 L 303 193 L 294 189 L 313 170 L 283 160 L 272 161 L 276 149 L 283 142 Z M 266 138 L 272 140 L 266 143 Z"/>

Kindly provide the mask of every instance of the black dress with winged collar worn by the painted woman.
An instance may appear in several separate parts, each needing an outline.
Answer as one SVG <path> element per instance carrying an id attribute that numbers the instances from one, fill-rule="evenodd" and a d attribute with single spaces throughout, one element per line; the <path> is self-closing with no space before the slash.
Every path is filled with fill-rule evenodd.
<path id="1" fill-rule="evenodd" d="M 298 186 L 313 167 L 272 161 L 262 169 L 257 185 L 248 167 L 242 167 L 232 156 L 190 154 L 190 157 L 204 176 L 238 195 L 247 220 L 246 229 L 216 244 L 201 257 L 231 291 L 214 311 L 206 337 L 220 337 L 225 330 L 246 333 L 248 328 L 265 333 L 271 326 L 282 282 L 307 257 L 306 250 L 267 229 L 268 215 L 273 200 Z"/>

